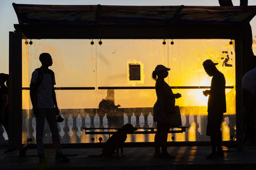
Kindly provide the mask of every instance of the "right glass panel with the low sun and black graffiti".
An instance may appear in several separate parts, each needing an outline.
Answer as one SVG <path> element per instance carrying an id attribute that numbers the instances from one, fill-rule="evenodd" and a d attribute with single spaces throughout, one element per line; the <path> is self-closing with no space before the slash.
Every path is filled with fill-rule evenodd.
<path id="1" fill-rule="evenodd" d="M 171 40 L 168 40 L 170 42 Z M 226 86 L 227 113 L 224 114 L 221 125 L 224 141 L 236 137 L 236 69 L 234 41 L 230 45 L 228 39 L 175 39 L 169 46 L 168 82 L 171 86 L 210 86 L 211 77 L 205 71 L 202 63 L 206 59 L 218 62 L 216 66 L 224 74 Z M 168 43 L 169 44 L 169 43 Z M 202 94 L 205 89 L 175 89 L 174 93 L 182 94 L 176 104 L 181 106 L 181 114 L 189 117 L 189 137 L 186 141 L 209 140 L 205 136 L 207 125 L 207 100 Z M 197 121 L 196 121 L 197 120 Z"/>

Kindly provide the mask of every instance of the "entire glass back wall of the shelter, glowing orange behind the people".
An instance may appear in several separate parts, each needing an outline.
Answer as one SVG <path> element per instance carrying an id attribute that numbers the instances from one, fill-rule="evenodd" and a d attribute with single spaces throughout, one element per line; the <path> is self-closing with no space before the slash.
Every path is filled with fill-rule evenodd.
<path id="1" fill-rule="evenodd" d="M 205 136 L 207 97 L 202 95 L 205 89 L 196 88 L 211 85 L 211 77 L 202 66 L 205 59 L 218 62 L 226 85 L 235 87 L 234 46 L 229 45 L 228 39 L 175 39 L 173 45 L 170 39 L 166 39 L 166 45 L 163 39 L 102 39 L 102 45 L 99 39 L 94 40 L 94 45 L 90 41 L 40 39 L 33 40 L 33 45 L 22 41 L 22 87 L 29 87 L 31 73 L 40 67 L 38 56 L 42 52 L 52 55 L 54 63 L 50 68 L 56 74 L 56 87 L 95 87 L 95 90 L 56 90 L 61 115 L 65 118 L 59 123 L 61 143 L 91 143 L 91 138 L 99 142 L 99 137 L 103 141 L 108 139 L 108 135 L 86 135 L 83 127 L 121 127 L 126 123 L 156 127 L 152 117 L 156 102 L 154 89 L 102 90 L 98 87 L 154 87 L 151 74 L 157 64 L 171 68 L 166 78 L 169 85 L 190 88 L 173 89 L 174 93 L 182 94 L 176 104 L 180 106 L 182 125 L 189 129 L 181 134 L 170 134 L 168 141 L 172 141 L 172 136 L 174 141 L 209 141 Z M 129 64 L 140 64 L 141 80 L 129 79 Z M 236 89 L 226 89 L 226 97 L 227 113 L 222 132 L 223 140 L 228 141 L 236 138 Z M 106 106 L 104 100 L 114 103 L 105 103 Z M 22 91 L 22 108 L 22 138 L 26 143 L 27 138 L 35 139 L 29 90 Z M 49 127 L 45 126 L 45 143 L 51 143 Z M 154 141 L 154 134 L 129 135 L 127 142 L 130 141 Z"/>

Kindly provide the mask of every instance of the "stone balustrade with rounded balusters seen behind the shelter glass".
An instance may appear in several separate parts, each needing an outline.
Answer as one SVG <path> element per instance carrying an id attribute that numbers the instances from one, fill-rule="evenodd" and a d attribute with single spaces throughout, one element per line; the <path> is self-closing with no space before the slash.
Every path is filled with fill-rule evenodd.
<path id="1" fill-rule="evenodd" d="M 182 125 L 188 126 L 183 134 L 172 134 L 174 141 L 209 141 L 206 136 L 207 116 L 197 115 L 200 107 L 180 107 Z M 190 114 L 189 114 L 190 113 Z M 87 135 L 84 134 L 83 127 L 122 127 L 124 124 L 132 124 L 134 127 L 156 127 L 153 121 L 152 108 L 120 108 L 109 113 L 102 113 L 99 109 L 62 109 L 61 116 L 65 120 L 58 123 L 61 143 L 91 143 L 92 138 L 99 142 L 99 137 L 103 141 L 108 139 L 108 135 Z M 23 110 L 22 140 L 26 143 L 27 138 L 32 138 L 35 143 L 35 116 L 31 110 Z M 223 140 L 233 140 L 236 138 L 236 115 L 224 115 L 223 118 Z M 3 127 L 0 127 L 0 145 L 6 143 L 8 139 Z M 230 137 L 231 136 L 231 137 Z M 129 142 L 154 141 L 154 134 L 131 134 L 127 138 Z M 51 143 L 51 131 L 48 124 L 45 124 L 45 143 Z"/>

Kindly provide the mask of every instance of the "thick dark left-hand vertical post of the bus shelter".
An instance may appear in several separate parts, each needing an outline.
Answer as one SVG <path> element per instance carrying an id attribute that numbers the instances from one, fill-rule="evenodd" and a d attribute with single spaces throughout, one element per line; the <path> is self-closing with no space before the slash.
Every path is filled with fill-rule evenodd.
<path id="1" fill-rule="evenodd" d="M 9 32 L 9 145 L 22 145 L 22 35 Z"/>

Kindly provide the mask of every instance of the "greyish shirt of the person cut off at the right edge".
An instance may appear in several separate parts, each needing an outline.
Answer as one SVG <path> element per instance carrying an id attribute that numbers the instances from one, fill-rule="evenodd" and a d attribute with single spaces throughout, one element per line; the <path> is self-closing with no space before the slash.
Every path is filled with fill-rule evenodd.
<path id="1" fill-rule="evenodd" d="M 249 90 L 252 94 L 256 92 L 256 67 L 250 71 L 248 71 L 243 76 L 242 81 L 243 89 Z"/>

